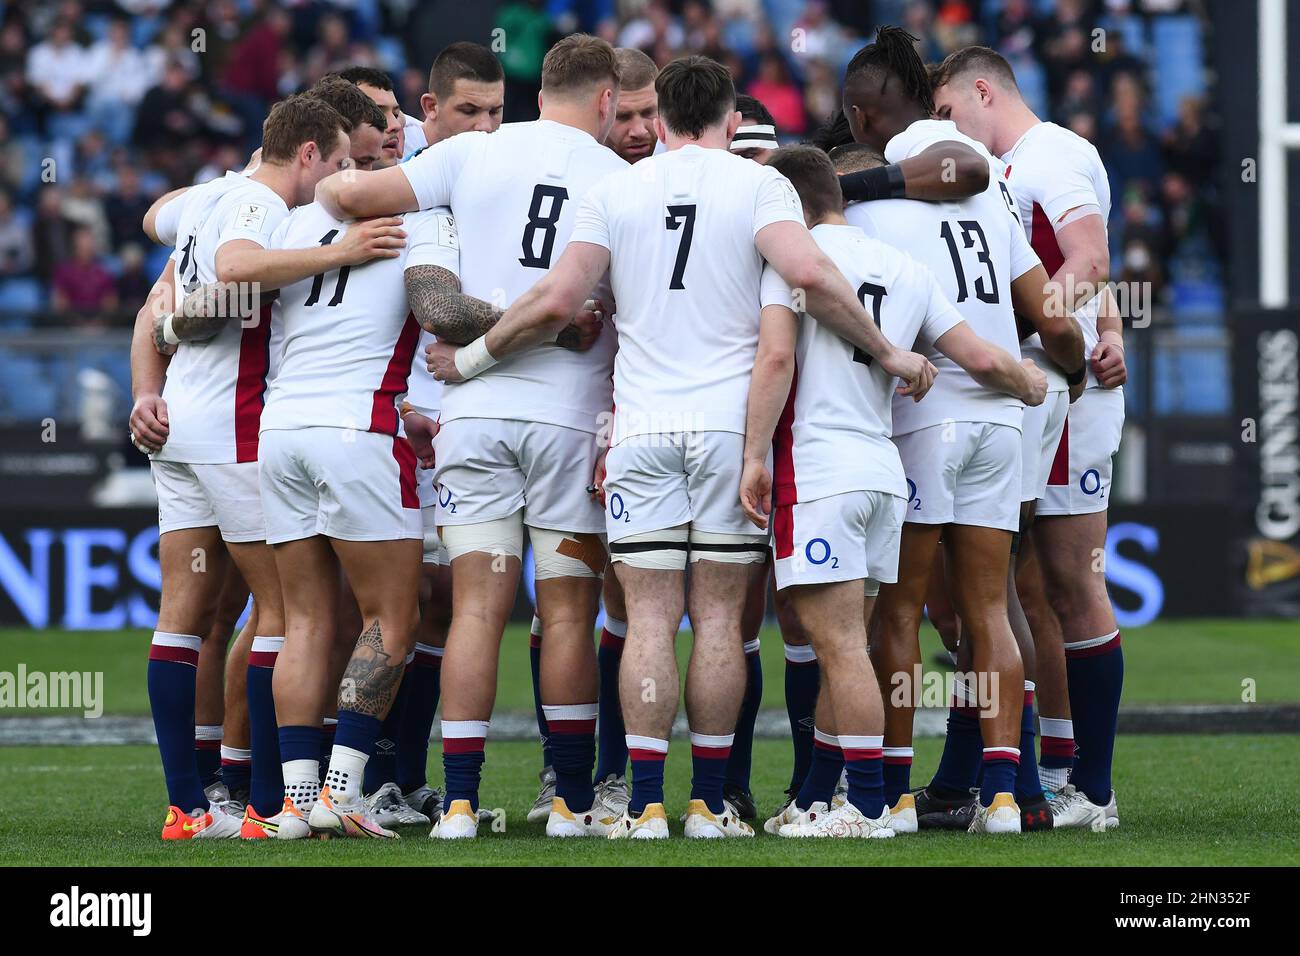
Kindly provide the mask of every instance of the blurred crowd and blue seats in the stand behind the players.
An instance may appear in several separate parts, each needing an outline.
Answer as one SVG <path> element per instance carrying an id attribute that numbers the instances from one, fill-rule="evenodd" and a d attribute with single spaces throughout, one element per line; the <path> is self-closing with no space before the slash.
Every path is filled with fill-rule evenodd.
<path id="1" fill-rule="evenodd" d="M 506 120 L 530 120 L 547 47 L 586 30 L 660 65 L 714 56 L 794 142 L 838 109 L 844 65 L 879 23 L 919 36 L 926 60 L 994 47 L 1040 116 L 1096 143 L 1112 277 L 1149 284 L 1173 330 L 1138 346 L 1152 350 L 1149 381 L 1130 389 L 1130 414 L 1226 410 L 1225 159 L 1196 3 L 0 0 L 0 421 L 66 410 L 87 367 L 125 420 L 122 337 L 166 255 L 142 215 L 166 189 L 240 168 L 268 107 L 332 69 L 387 70 L 417 113 L 437 51 L 474 39 L 504 68 Z M 69 328 L 87 345 L 77 355 L 42 345 Z"/>

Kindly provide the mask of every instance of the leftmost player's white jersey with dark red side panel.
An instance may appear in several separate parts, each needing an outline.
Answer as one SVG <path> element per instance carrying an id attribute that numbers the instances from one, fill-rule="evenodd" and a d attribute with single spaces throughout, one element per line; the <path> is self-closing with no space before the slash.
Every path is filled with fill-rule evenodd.
<path id="1" fill-rule="evenodd" d="M 268 247 L 289 207 L 269 186 L 238 173 L 183 196 L 177 228 L 177 306 L 217 281 L 217 250 L 234 239 Z M 270 291 L 270 290 L 266 290 Z M 190 464 L 257 460 L 257 427 L 272 373 L 272 307 L 256 321 L 231 319 L 205 342 L 182 342 L 166 371 L 170 433 L 153 458 Z"/>

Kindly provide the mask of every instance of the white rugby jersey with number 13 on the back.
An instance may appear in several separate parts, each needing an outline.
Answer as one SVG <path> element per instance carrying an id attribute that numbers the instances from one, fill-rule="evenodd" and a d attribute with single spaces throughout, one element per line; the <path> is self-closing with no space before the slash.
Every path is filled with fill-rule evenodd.
<path id="1" fill-rule="evenodd" d="M 844 216 L 867 235 L 907 252 L 928 265 L 944 295 L 980 338 L 1020 355 L 1011 308 L 1011 281 L 1039 264 L 1030 248 L 1015 200 L 1002 182 L 1001 165 L 974 139 L 946 121 L 918 120 L 889 140 L 890 163 L 915 156 L 928 146 L 956 139 L 989 160 L 988 189 L 959 203 L 884 199 L 854 203 Z M 946 421 L 989 421 L 1020 428 L 1020 399 L 979 385 L 933 347 L 924 355 L 939 369 L 935 385 L 920 401 L 893 399 L 893 433 L 907 434 Z"/>

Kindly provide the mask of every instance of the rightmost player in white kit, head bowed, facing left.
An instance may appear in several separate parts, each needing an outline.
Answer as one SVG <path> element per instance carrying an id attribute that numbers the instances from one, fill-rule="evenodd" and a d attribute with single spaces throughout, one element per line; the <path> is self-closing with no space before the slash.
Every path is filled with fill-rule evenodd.
<path id="1" fill-rule="evenodd" d="M 953 53 L 933 83 L 939 116 L 1006 164 L 1026 235 L 1052 273 L 1057 300 L 1074 312 L 1088 350 L 1083 395 L 1069 415 L 1054 410 L 1043 429 L 1046 454 L 1034 488 L 1026 489 L 1034 492 L 1041 520 L 1022 544 L 1018 584 L 1039 657 L 1040 773 L 1058 795 L 1054 826 L 1112 829 L 1119 825 L 1110 763 L 1123 653 L 1105 575 L 1092 557 L 1105 548 L 1112 459 L 1123 429 L 1121 386 L 1127 378 L 1123 325 L 1105 286 L 1110 186 L 1096 148 L 1040 121 L 996 51 L 968 47 Z M 1060 380 L 1053 390 L 1061 392 Z"/>

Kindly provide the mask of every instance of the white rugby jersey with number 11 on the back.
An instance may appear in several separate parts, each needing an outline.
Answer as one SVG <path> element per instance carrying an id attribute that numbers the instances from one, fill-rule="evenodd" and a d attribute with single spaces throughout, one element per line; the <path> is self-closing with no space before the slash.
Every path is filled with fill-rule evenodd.
<path id="1" fill-rule="evenodd" d="M 285 346 L 261 415 L 263 431 L 324 425 L 398 433 L 398 405 L 420 333 L 407 306 L 403 272 L 417 264 L 448 268 L 455 234 L 447 220 L 445 212 L 411 213 L 403 220 L 403 255 L 346 265 L 280 290 Z M 330 245 L 348 225 L 312 203 L 285 220 L 272 245 Z"/>

